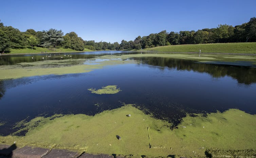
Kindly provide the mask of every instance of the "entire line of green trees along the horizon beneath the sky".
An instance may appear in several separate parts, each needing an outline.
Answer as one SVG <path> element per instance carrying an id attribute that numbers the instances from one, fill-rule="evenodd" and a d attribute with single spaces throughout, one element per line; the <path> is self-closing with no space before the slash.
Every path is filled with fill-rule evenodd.
<path id="1" fill-rule="evenodd" d="M 205 28 L 198 31 L 180 31 L 151 33 L 148 36 L 138 36 L 133 41 L 122 40 L 118 42 L 95 42 L 84 41 L 75 32 L 64 35 L 61 30 L 49 29 L 35 31 L 28 29 L 21 32 L 12 26 L 4 26 L 0 23 L 0 52 L 8 52 L 11 48 L 30 46 L 45 48 L 71 48 L 83 51 L 90 50 L 125 50 L 144 49 L 158 46 L 182 45 L 182 44 L 206 44 L 206 43 L 227 43 L 227 42 L 256 42 L 256 18 L 249 22 L 237 25 L 218 25 L 217 28 Z"/>

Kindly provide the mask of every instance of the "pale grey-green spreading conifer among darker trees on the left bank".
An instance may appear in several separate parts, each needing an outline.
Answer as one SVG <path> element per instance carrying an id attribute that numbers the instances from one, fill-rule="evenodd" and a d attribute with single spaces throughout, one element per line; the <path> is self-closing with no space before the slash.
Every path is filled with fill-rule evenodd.
<path id="1" fill-rule="evenodd" d="M 48 31 L 42 31 L 42 47 L 60 46 L 63 41 L 63 32 L 61 30 L 49 29 Z"/>

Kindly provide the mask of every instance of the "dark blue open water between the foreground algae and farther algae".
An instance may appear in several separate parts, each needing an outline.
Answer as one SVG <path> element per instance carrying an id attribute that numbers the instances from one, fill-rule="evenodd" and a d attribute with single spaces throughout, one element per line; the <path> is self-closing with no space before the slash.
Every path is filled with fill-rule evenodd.
<path id="1" fill-rule="evenodd" d="M 161 57 L 131 60 L 139 63 L 0 81 L 0 122 L 7 122 L 0 126 L 0 134 L 15 132 L 15 122 L 25 118 L 55 113 L 94 115 L 123 103 L 136 104 L 174 126 L 186 113 L 237 108 L 256 114 L 256 68 Z M 97 95 L 87 90 L 107 85 L 117 85 L 122 91 Z"/>

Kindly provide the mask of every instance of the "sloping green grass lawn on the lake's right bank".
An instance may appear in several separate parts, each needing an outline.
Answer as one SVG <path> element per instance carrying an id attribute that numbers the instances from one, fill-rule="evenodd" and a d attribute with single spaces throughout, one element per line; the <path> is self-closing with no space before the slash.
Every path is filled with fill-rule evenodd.
<path id="1" fill-rule="evenodd" d="M 200 49 L 201 49 L 202 53 L 250 53 L 250 54 L 256 54 L 256 42 L 171 45 L 171 46 L 147 48 L 147 49 L 144 49 L 144 51 L 199 52 Z"/>

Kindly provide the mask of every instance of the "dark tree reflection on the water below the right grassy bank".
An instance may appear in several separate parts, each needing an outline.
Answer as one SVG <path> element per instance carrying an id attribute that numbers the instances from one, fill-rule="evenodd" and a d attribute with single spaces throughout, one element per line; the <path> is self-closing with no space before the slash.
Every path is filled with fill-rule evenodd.
<path id="1" fill-rule="evenodd" d="M 133 58 L 141 60 L 142 63 L 149 65 L 160 66 L 159 69 L 165 67 L 177 70 L 195 71 L 201 73 L 208 73 L 215 78 L 230 76 L 238 81 L 238 83 L 252 84 L 256 83 L 256 68 L 225 65 L 225 64 L 209 64 L 198 63 L 191 60 L 163 58 L 163 57 L 142 57 Z"/>

